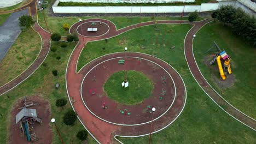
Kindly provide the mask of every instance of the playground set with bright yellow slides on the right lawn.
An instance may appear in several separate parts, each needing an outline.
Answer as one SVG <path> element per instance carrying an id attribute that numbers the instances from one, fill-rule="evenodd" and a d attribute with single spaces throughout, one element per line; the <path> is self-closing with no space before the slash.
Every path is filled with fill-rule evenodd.
<path id="1" fill-rule="evenodd" d="M 219 68 L 220 79 L 225 80 L 226 75 L 232 73 L 231 67 L 230 67 L 231 59 L 228 56 L 228 54 L 226 54 L 226 52 L 224 50 L 222 51 L 222 50 L 219 49 L 219 46 L 215 43 L 215 41 L 214 41 L 213 46 L 215 46 L 219 52 L 217 52 L 216 55 L 214 55 L 214 57 L 211 59 L 210 65 L 212 65 L 215 61 L 217 61 L 218 68 Z M 211 51 L 212 47 L 207 51 Z"/>

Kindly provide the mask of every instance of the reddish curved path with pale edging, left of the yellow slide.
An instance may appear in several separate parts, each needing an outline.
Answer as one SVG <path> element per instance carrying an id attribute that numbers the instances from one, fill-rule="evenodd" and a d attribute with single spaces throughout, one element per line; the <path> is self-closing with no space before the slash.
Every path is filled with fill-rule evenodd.
<path id="1" fill-rule="evenodd" d="M 184 55 L 190 70 L 196 82 L 203 89 L 203 91 L 216 103 L 222 110 L 224 110 L 228 115 L 235 118 L 237 121 L 247 125 L 247 127 L 256 130 L 255 119 L 245 115 L 241 111 L 237 110 L 234 106 L 230 105 L 228 101 L 223 99 L 206 81 L 205 77 L 201 74 L 199 67 L 195 61 L 193 53 L 193 35 L 199 31 L 199 29 L 211 21 L 205 20 L 197 23 L 193 28 L 189 30 L 184 40 Z M 223 107 L 225 107 L 225 109 Z"/>

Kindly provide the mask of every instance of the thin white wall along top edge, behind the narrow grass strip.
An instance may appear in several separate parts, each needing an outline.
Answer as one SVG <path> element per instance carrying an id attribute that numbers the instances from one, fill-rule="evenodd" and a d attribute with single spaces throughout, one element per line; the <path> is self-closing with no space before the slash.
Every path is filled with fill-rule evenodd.
<path id="1" fill-rule="evenodd" d="M 186 0 L 60 0 L 60 2 L 79 2 L 79 3 L 173 3 L 186 2 Z M 187 3 L 195 0 L 187 0 Z"/>

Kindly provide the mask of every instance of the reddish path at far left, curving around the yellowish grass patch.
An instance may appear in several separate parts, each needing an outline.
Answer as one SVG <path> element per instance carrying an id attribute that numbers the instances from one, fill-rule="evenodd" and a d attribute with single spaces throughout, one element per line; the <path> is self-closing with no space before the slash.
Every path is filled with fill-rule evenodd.
<path id="1" fill-rule="evenodd" d="M 27 5 L 24 5 L 23 7 L 18 8 L 18 10 L 30 8 L 30 14 L 32 16 L 37 16 L 36 2 L 37 0 L 33 0 Z M 0 14 L 3 14 L 4 12 L 5 11 L 2 11 L 0 12 Z M 39 66 L 44 62 L 44 59 L 48 55 L 48 52 L 50 50 L 50 36 L 51 36 L 50 33 L 44 31 L 44 29 L 42 29 L 38 25 L 38 23 L 35 23 L 33 28 L 40 35 L 42 39 L 42 48 L 40 50 L 40 53 L 38 54 L 36 60 L 30 65 L 30 67 L 28 67 L 25 71 L 23 71 L 22 74 L 20 74 L 19 76 L 15 77 L 15 79 L 11 80 L 10 82 L 0 87 L 0 95 L 7 93 L 14 87 L 18 86 L 21 82 L 25 81 L 30 75 L 34 73 L 34 71 L 36 71 L 39 68 Z"/>

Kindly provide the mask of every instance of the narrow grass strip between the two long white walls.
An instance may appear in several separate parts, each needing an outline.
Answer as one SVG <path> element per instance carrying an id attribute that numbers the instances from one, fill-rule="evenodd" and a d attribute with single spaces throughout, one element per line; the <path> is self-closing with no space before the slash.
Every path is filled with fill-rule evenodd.
<path id="1" fill-rule="evenodd" d="M 86 6 L 86 7 L 104 7 L 104 6 L 172 6 L 172 5 L 201 5 L 202 3 L 208 3 L 210 0 L 199 0 L 194 3 L 79 3 L 79 2 L 60 2 L 58 6 L 62 7 L 75 7 L 75 6 Z"/>

